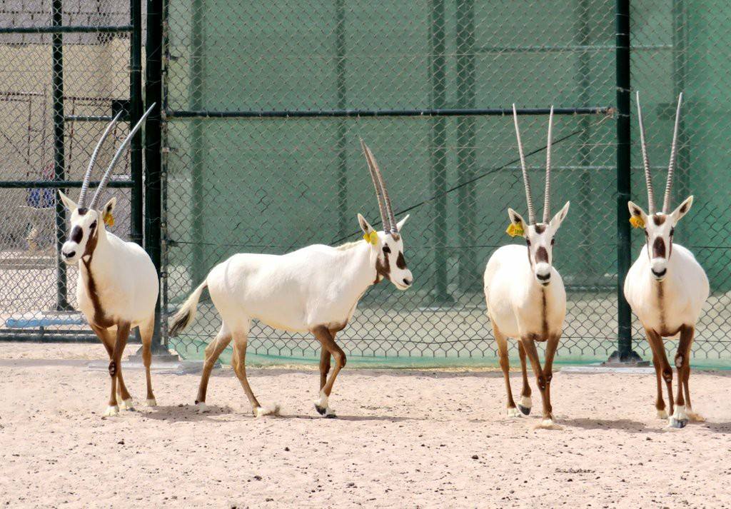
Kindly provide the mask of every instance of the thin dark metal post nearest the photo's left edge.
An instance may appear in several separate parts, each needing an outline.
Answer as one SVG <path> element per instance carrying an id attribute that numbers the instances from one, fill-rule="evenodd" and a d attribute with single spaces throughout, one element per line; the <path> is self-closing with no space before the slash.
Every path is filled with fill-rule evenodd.
<path id="1" fill-rule="evenodd" d="M 51 23 L 54 28 L 63 24 L 63 1 L 53 0 L 51 7 Z M 54 32 L 51 36 L 51 59 L 53 72 L 53 179 L 66 180 L 66 161 L 64 157 L 64 36 L 61 32 Z M 56 199 L 56 253 L 61 252 L 66 233 L 66 209 L 61 200 Z M 61 257 L 56 257 L 56 310 L 68 311 L 66 264 Z"/>

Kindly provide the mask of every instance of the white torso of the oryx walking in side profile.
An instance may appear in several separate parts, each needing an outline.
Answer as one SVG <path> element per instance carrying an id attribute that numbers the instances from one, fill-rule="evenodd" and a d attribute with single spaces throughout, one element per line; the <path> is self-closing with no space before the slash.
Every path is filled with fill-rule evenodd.
<path id="1" fill-rule="evenodd" d="M 205 279 L 211 301 L 227 323 L 246 310 L 249 319 L 284 331 L 337 328 L 349 322 L 378 277 L 377 253 L 366 242 L 345 248 L 314 245 L 286 255 L 233 255 Z"/>

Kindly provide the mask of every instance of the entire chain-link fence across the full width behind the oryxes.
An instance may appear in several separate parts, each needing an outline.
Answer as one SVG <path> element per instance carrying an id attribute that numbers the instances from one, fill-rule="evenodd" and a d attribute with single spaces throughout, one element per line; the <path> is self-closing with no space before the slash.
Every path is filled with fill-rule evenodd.
<path id="1" fill-rule="evenodd" d="M 58 265 L 64 222 L 49 190 L 58 181 L 72 187 L 80 180 L 106 118 L 140 100 L 131 93 L 135 67 L 129 65 L 132 34 L 141 31 L 130 21 L 134 6 L 0 3 L 5 336 L 88 335 L 83 320 L 66 311 L 74 306 L 76 274 Z M 504 234 L 507 207 L 526 208 L 506 113 L 512 102 L 521 110 L 538 193 L 546 113 L 555 105 L 561 114 L 552 203 L 572 202 L 554 260 L 568 291 L 558 355 L 605 360 L 617 349 L 620 325 L 618 253 L 629 251 L 634 259 L 643 243 L 633 232 L 631 246 L 618 248 L 618 228 L 627 226 L 618 224 L 617 207 L 623 170 L 617 124 L 624 113 L 616 110 L 616 6 L 605 0 L 164 2 L 163 315 L 236 252 L 281 254 L 359 238 L 356 214 L 372 222 L 379 216 L 360 154 L 363 137 L 382 165 L 398 215 L 412 214 L 404 240 L 415 284 L 406 293 L 385 283 L 372 287 L 338 341 L 351 360 L 364 362 L 493 361 L 482 271 L 497 247 L 512 242 Z M 727 365 L 731 246 L 723 233 L 731 217 L 724 135 L 731 127 L 725 114 L 731 45 L 725 28 L 731 8 L 719 0 L 652 0 L 633 3 L 629 14 L 631 83 L 643 98 L 658 189 L 673 105 L 679 91 L 686 94 L 675 198 L 694 194 L 696 200 L 675 236 L 711 280 L 695 360 Z M 45 30 L 19 30 L 28 27 Z M 627 171 L 632 198 L 644 204 L 635 105 L 629 113 Z M 127 126 L 120 124 L 120 135 Z M 62 144 L 54 143 L 59 132 Z M 113 154 L 111 145 L 99 166 Z M 133 155 L 119 165 L 118 187 L 110 189 L 124 211 L 114 231 L 135 240 L 138 164 Z M 204 299 L 192 328 L 170 346 L 200 356 L 219 325 Z M 631 326 L 634 349 L 648 358 L 639 324 Z M 309 336 L 258 323 L 249 337 L 251 352 L 290 361 L 316 357 L 317 346 Z"/>

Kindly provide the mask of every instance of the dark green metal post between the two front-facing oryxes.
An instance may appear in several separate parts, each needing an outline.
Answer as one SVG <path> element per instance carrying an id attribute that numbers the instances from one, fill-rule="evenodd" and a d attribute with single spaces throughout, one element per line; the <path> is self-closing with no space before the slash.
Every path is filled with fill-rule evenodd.
<path id="1" fill-rule="evenodd" d="M 624 298 L 624 278 L 632 263 L 632 238 L 629 230 L 629 200 L 632 188 L 631 137 L 629 123 L 629 0 L 616 2 L 617 75 L 617 351 L 610 362 L 639 361 L 632 351 L 632 310 Z"/>

